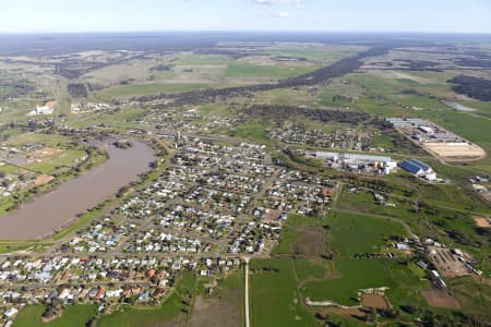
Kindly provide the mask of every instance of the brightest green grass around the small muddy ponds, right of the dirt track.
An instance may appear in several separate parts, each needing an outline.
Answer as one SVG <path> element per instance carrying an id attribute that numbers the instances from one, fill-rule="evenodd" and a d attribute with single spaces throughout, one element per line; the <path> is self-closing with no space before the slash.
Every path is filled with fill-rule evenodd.
<path id="1" fill-rule="evenodd" d="M 331 300 L 344 305 L 358 304 L 357 291 L 388 287 L 394 303 L 423 303 L 418 290 L 427 288 L 406 264 L 388 259 L 357 259 L 356 253 L 380 252 L 384 239 L 405 235 L 400 223 L 363 215 L 339 214 L 328 218 L 331 247 L 336 253 L 336 278 L 306 284 L 303 295 L 313 301 Z"/>

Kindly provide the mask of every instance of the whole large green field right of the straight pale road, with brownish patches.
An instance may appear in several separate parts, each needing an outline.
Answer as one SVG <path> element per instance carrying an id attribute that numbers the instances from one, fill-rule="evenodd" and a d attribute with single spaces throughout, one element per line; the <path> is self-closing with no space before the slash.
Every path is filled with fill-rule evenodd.
<path id="1" fill-rule="evenodd" d="M 323 229 L 323 225 L 328 228 Z M 332 262 L 322 259 L 319 252 L 296 251 L 297 242 L 304 242 L 302 238 L 311 235 L 306 229 L 309 227 L 316 228 L 321 233 L 328 235 L 324 239 L 325 245 L 322 249 L 323 251 L 328 249 L 335 253 Z M 363 232 L 355 232 L 358 230 Z M 297 324 L 303 326 L 306 313 L 298 305 L 304 303 L 306 299 L 332 301 L 342 305 L 359 305 L 358 291 L 368 288 L 387 287 L 386 298 L 395 307 L 403 304 L 426 306 L 419 291 L 428 289 L 429 283 L 420 280 L 420 272 L 415 272 L 418 269 L 409 267 L 404 262 L 352 257 L 357 253 L 383 252 L 388 237 L 405 234 L 405 229 L 398 222 L 363 215 L 336 213 L 322 222 L 315 218 L 291 216 L 274 253 L 282 257 L 290 253 L 304 258 L 252 262 L 252 317 L 255 325 L 262 326 L 267 322 L 270 310 L 262 307 L 271 308 L 271 303 L 279 301 L 283 305 L 275 312 L 282 312 L 284 324 L 291 325 L 296 314 L 299 319 Z M 283 284 L 282 288 L 279 283 Z M 295 289 L 295 284 L 299 289 Z M 367 306 L 382 308 L 388 305 L 385 300 L 375 295 L 373 299 L 371 295 L 366 296 L 363 301 Z M 286 310 L 287 307 L 289 310 Z M 315 307 L 315 310 L 321 308 Z M 367 315 L 366 312 L 355 307 L 349 310 L 330 307 L 322 308 L 322 312 L 344 316 Z M 258 320 L 258 315 L 261 316 L 261 320 Z"/>

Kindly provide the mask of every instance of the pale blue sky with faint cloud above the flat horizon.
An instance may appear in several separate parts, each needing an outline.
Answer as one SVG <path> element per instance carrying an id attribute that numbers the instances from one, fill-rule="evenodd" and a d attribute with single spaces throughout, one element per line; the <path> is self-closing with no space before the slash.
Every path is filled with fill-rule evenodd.
<path id="1" fill-rule="evenodd" d="M 0 33 L 491 33 L 489 0 L 2 0 Z"/>

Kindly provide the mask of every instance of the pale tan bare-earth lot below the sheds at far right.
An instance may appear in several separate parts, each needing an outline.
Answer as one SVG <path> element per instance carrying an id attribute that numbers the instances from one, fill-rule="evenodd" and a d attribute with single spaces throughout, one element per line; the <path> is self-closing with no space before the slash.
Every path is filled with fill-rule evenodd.
<path id="1" fill-rule="evenodd" d="M 469 143 L 424 143 L 431 153 L 447 160 L 478 160 L 486 157 L 486 152 L 476 144 Z"/>

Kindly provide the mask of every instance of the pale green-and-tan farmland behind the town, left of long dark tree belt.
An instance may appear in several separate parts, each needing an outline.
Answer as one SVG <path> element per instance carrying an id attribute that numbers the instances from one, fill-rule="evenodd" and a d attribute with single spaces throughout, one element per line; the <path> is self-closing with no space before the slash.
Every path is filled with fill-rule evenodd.
<path id="1" fill-rule="evenodd" d="M 345 53 L 342 52 L 338 58 L 343 56 Z M 97 86 L 98 90 L 91 97 L 112 100 L 159 93 L 271 83 L 321 66 L 320 62 L 280 62 L 274 58 L 249 56 L 232 59 L 221 55 L 192 52 L 153 55 L 148 60 L 134 60 L 92 71 L 82 76 L 82 81 Z"/>

